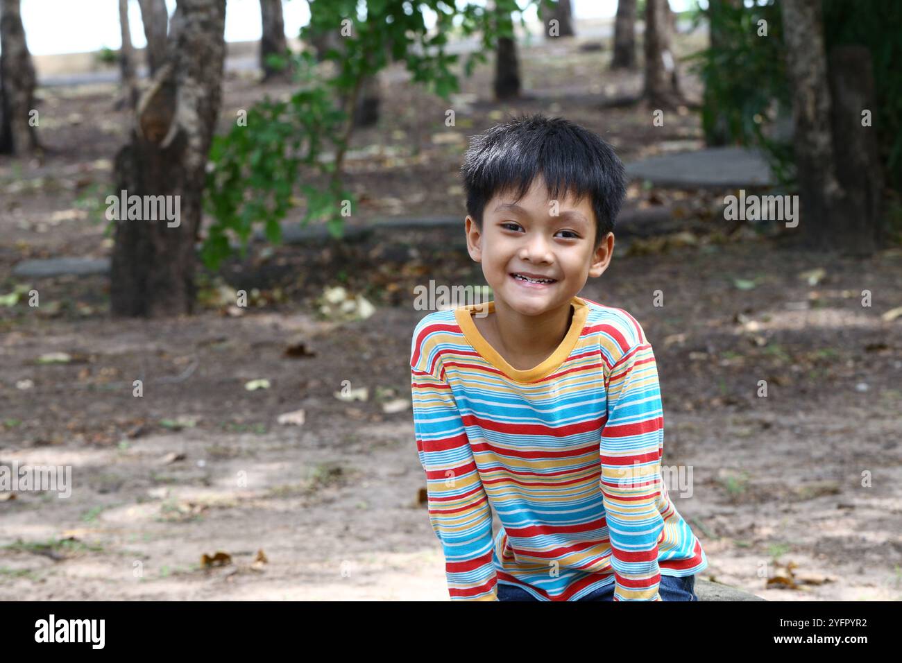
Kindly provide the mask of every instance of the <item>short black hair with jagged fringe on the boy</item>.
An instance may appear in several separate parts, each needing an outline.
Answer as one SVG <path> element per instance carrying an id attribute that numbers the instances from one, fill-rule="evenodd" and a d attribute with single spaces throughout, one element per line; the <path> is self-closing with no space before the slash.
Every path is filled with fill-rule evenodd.
<path id="1" fill-rule="evenodd" d="M 589 196 L 595 213 L 597 249 L 613 230 L 626 195 L 623 163 L 601 137 L 563 117 L 539 113 L 511 117 L 470 142 L 461 167 L 466 213 L 483 229 L 483 210 L 496 193 L 516 190 L 523 198 L 538 174 L 549 198 Z"/>

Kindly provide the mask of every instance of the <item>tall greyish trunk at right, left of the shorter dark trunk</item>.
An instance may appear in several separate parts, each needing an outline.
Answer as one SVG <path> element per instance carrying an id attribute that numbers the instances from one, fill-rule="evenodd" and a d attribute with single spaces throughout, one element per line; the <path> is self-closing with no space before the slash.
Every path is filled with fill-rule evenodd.
<path id="1" fill-rule="evenodd" d="M 841 215 L 837 206 L 844 197 L 834 175 L 821 2 L 783 0 L 780 10 L 792 89 L 793 149 L 800 198 L 796 232 L 801 231 L 800 241 L 805 246 L 827 248 L 843 236 L 838 234 Z"/>

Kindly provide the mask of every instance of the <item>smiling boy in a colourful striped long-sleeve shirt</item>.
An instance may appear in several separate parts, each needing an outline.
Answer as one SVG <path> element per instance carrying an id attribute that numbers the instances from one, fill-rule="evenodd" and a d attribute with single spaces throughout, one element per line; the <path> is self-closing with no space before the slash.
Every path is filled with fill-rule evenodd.
<path id="1" fill-rule="evenodd" d="M 651 345 L 623 309 L 576 296 L 611 262 L 621 161 L 583 127 L 532 115 L 475 136 L 462 171 L 467 249 L 494 299 L 429 313 L 410 347 L 448 593 L 697 601 L 708 563 L 661 480 Z"/>

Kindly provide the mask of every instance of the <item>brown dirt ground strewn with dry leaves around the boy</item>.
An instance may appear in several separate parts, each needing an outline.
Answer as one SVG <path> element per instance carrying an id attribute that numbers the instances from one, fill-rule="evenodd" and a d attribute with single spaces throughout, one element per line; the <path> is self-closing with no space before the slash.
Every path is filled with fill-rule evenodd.
<path id="1" fill-rule="evenodd" d="M 380 126 L 354 136 L 360 216 L 460 214 L 461 227 L 258 244 L 198 272 L 195 316 L 152 321 L 110 319 L 105 277 L 12 275 L 24 258 L 110 253 L 97 199 L 124 137 L 115 88 L 41 90 L 54 152 L 0 160 L 0 295 L 41 293 L 40 308 L 0 306 L 0 465 L 70 465 L 73 490 L 0 494 L 0 599 L 446 600 L 410 409 L 384 410 L 410 398 L 410 335 L 425 315 L 412 288 L 484 282 L 463 249 L 457 170 L 465 136 L 506 109 L 566 115 L 624 160 L 701 146 L 688 110 L 654 127 L 639 106 L 600 107 L 641 82 L 598 77 L 607 57 L 574 42 L 524 52 L 537 98 L 510 106 L 487 100 L 491 69 L 477 69 L 447 143 L 435 139 L 447 102 L 392 73 Z M 223 127 L 289 89 L 228 78 Z M 686 89 L 697 93 L 692 79 Z M 775 233 L 726 232 L 718 197 L 631 187 L 628 207 L 667 206 L 686 232 L 618 241 L 581 293 L 629 310 L 655 348 L 664 465 L 693 472 L 691 495 L 669 491 L 710 560 L 701 576 L 774 601 L 898 600 L 902 318 L 881 314 L 902 306 L 902 250 L 798 253 Z M 373 316 L 314 315 L 338 284 Z M 228 315 L 222 285 L 258 289 L 260 306 Z M 49 353 L 69 361 L 38 361 Z M 245 389 L 260 379 L 270 387 Z M 369 398 L 339 400 L 343 386 Z M 277 422 L 299 409 L 302 425 Z M 218 551 L 231 563 L 202 564 Z"/>

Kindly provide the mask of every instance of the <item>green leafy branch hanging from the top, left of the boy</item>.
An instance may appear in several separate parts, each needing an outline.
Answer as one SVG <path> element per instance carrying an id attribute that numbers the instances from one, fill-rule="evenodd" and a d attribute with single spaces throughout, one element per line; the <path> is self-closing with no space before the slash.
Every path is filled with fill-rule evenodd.
<path id="1" fill-rule="evenodd" d="M 391 61 L 402 61 L 414 81 L 447 100 L 459 90 L 453 70 L 458 56 L 445 51 L 449 37 L 481 36 L 482 48 L 465 61 L 465 75 L 470 76 L 498 38 L 510 36 L 511 14 L 520 14 L 525 25 L 523 12 L 539 2 L 527 0 L 520 6 L 516 0 L 496 0 L 486 9 L 444 0 L 367 0 L 362 17 L 356 0 L 310 0 L 310 20 L 300 39 L 307 44 L 323 35 L 335 38 L 322 55 L 334 63 L 334 74 L 326 78 L 310 51 L 271 57 L 272 64 L 293 70 L 298 90 L 287 101 L 267 97 L 247 109 L 246 116 L 238 115 L 228 134 L 214 138 L 205 203 L 214 221 L 201 249 L 207 267 L 216 269 L 231 255 L 229 235 L 246 253 L 255 226 L 278 244 L 281 220 L 301 203 L 302 225 L 325 222 L 340 237 L 356 202 L 343 186 L 342 169 L 364 80 Z M 427 30 L 425 12 L 437 17 L 433 33 Z M 326 186 L 316 184 L 322 180 Z M 296 186 L 303 200 L 295 197 Z"/>

